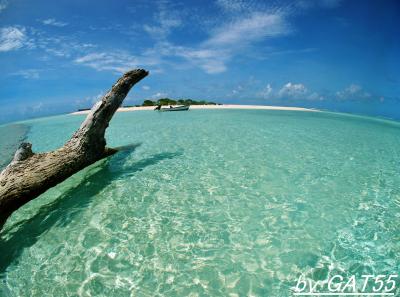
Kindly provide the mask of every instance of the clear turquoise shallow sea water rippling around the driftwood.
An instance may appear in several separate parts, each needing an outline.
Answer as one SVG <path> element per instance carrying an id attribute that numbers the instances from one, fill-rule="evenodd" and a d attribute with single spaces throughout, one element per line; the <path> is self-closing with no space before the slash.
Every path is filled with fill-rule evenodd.
<path id="1" fill-rule="evenodd" d="M 82 116 L 26 122 L 59 147 Z M 4 296 L 292 296 L 400 271 L 400 125 L 331 113 L 119 113 L 124 150 L 17 211 Z M 0 146 L 3 149 L 3 145 Z"/>

